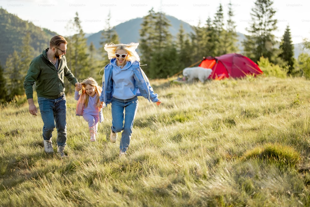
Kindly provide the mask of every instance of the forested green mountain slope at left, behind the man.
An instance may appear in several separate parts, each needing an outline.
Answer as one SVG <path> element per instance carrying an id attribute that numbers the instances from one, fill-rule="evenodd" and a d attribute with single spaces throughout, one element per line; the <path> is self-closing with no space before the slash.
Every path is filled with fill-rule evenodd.
<path id="1" fill-rule="evenodd" d="M 0 63 L 5 66 L 7 57 L 20 50 L 23 38 L 30 33 L 31 43 L 37 56 L 46 47 L 50 39 L 57 35 L 48 29 L 33 25 L 32 22 L 21 20 L 19 17 L 8 13 L 7 10 L 0 8 Z"/>

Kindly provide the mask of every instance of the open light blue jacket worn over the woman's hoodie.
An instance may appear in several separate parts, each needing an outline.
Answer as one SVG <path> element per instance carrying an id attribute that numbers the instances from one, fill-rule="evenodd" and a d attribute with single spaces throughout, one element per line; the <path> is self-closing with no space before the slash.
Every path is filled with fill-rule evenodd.
<path id="1" fill-rule="evenodd" d="M 116 67 L 116 58 L 113 58 L 111 62 L 104 67 L 100 101 L 103 101 L 105 104 L 109 104 L 112 101 L 113 81 L 111 79 L 111 76 L 113 67 Z M 143 70 L 140 68 L 139 61 L 131 62 L 130 66 L 126 70 L 133 70 L 134 72 L 135 87 L 138 88 L 136 95 L 142 96 L 148 99 L 148 101 L 150 102 L 157 102 L 158 95 L 157 93 L 154 93 L 153 88 L 148 81 L 148 78 L 144 74 Z"/>

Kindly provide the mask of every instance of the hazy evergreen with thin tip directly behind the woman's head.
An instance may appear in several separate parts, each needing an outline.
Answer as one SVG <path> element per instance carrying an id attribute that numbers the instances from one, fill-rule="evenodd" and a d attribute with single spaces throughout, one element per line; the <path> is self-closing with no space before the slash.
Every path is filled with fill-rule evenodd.
<path id="1" fill-rule="evenodd" d="M 107 65 L 110 60 L 108 59 L 107 56 L 107 52 L 104 50 L 104 45 L 106 43 L 114 43 L 114 44 L 119 44 L 119 37 L 117 32 L 115 31 L 115 27 L 111 27 L 110 24 L 110 20 L 111 20 L 111 11 L 109 11 L 108 13 L 108 18 L 106 20 L 106 28 L 104 30 L 102 30 L 101 32 L 101 42 L 100 42 L 100 52 L 102 55 L 102 67 L 104 67 L 105 65 Z"/>

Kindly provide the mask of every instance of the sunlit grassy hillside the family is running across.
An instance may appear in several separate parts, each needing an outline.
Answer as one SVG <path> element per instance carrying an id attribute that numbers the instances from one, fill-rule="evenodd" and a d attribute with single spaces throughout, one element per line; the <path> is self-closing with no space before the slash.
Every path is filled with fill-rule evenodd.
<path id="1" fill-rule="evenodd" d="M 2 107 L 0 206 L 310 206 L 308 80 L 151 83 L 163 103 L 139 98 L 126 158 L 110 106 L 93 143 L 67 97 L 66 159 L 27 105 Z"/>

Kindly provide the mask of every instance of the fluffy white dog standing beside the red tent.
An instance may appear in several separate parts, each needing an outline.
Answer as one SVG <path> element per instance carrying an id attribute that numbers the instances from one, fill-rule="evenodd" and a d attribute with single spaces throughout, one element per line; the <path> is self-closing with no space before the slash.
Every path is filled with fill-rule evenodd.
<path id="1" fill-rule="evenodd" d="M 202 83 L 210 76 L 212 69 L 202 68 L 202 67 L 192 67 L 184 68 L 183 76 L 187 77 L 187 81 L 193 81 L 195 78 L 198 78 Z"/>

